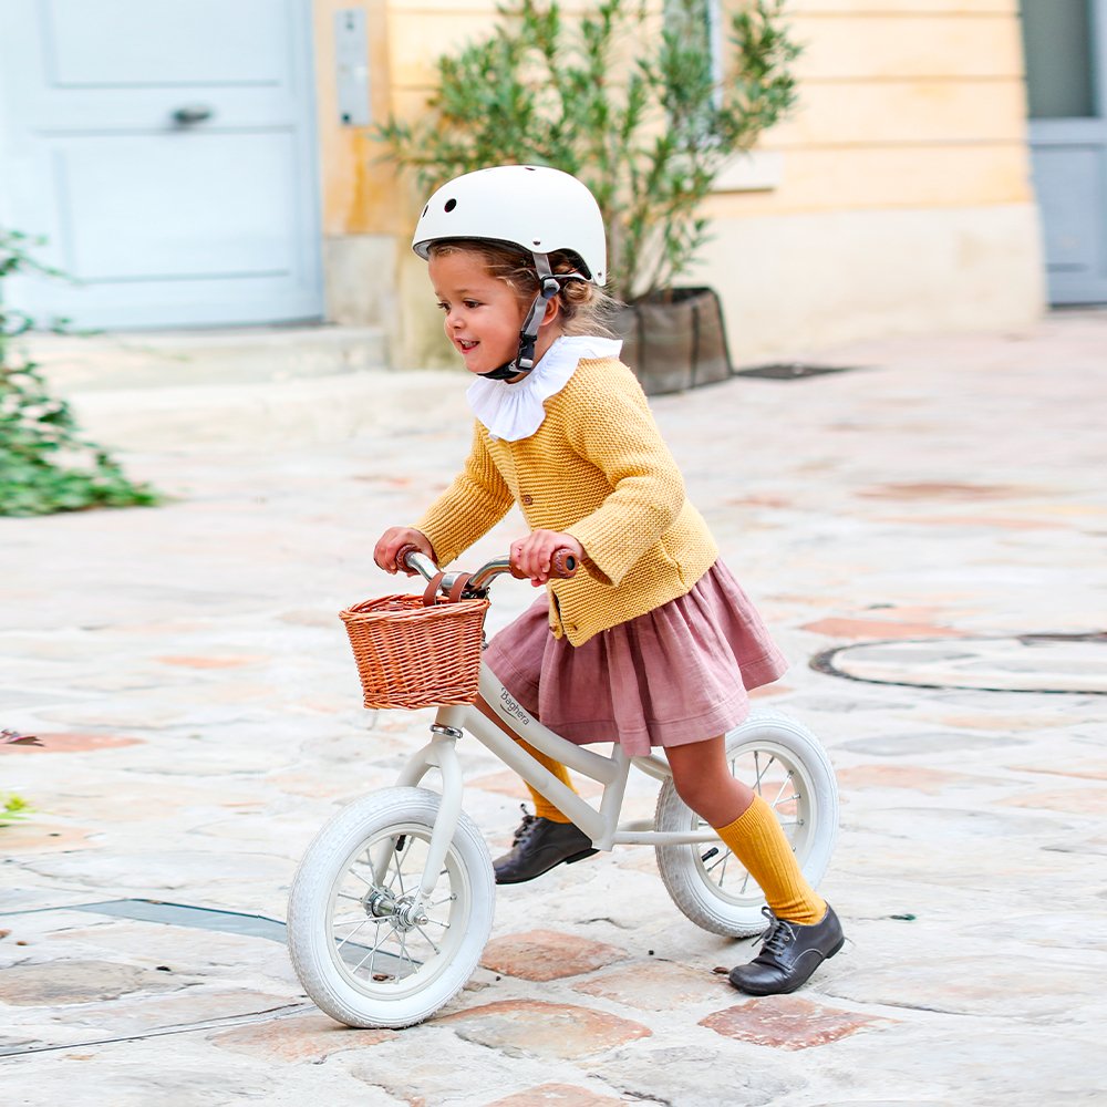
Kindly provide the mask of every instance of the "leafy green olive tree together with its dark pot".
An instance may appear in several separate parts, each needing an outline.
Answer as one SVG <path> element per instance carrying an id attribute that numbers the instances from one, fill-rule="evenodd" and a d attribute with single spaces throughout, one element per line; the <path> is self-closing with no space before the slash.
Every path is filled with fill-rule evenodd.
<path id="1" fill-rule="evenodd" d="M 415 122 L 376 136 L 422 189 L 504 162 L 552 165 L 596 195 L 623 360 L 646 392 L 730 374 L 710 289 L 679 283 L 708 237 L 701 204 L 722 169 L 795 102 L 784 0 L 730 19 L 721 64 L 712 0 L 601 0 L 563 15 L 556 0 L 500 8 L 493 34 L 437 61 Z"/>

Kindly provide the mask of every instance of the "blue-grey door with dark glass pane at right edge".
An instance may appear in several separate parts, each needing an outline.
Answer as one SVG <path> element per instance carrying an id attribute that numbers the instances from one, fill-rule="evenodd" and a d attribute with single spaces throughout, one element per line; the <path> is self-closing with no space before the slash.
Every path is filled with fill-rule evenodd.
<path id="1" fill-rule="evenodd" d="M 1107 303 L 1107 0 L 1023 0 L 1053 303 Z"/>

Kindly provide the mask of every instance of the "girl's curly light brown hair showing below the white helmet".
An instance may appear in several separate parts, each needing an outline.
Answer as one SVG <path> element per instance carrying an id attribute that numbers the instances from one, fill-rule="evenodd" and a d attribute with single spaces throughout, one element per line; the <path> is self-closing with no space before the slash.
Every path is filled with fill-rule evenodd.
<path id="1" fill-rule="evenodd" d="M 534 258 L 510 242 L 496 242 L 484 238 L 445 238 L 432 242 L 427 256 L 447 257 L 452 254 L 475 254 L 488 275 L 504 281 L 516 296 L 530 304 L 539 292 L 538 270 Z M 555 250 L 549 255 L 555 273 L 576 273 L 583 262 L 572 250 Z M 618 301 L 590 280 L 570 280 L 557 294 L 562 334 L 599 334 L 617 338 L 610 319 Z"/>

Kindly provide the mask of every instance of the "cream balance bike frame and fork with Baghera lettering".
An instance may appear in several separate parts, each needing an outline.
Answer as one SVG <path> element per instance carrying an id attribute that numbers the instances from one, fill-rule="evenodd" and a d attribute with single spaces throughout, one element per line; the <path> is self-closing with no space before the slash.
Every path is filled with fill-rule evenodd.
<path id="1" fill-rule="evenodd" d="M 465 731 L 569 816 L 591 838 L 597 849 L 609 850 L 613 846 L 623 845 L 679 846 L 718 840 L 711 827 L 677 832 L 654 830 L 652 820 L 619 823 L 630 766 L 633 764 L 646 775 L 666 780 L 672 772 L 663 758 L 653 754 L 629 757 L 618 743 L 611 755 L 604 756 L 568 742 L 525 711 L 483 661 L 479 687 L 484 701 L 495 710 L 513 734 L 517 734 L 540 753 L 602 784 L 603 795 L 597 809 L 571 788 L 567 788 L 475 704 L 439 707 L 431 726 L 431 741 L 408 759 L 396 779 L 400 787 L 416 787 L 432 768 L 437 768 L 442 774 L 442 806 L 431 835 L 417 902 L 427 899 L 433 892 L 457 827 L 463 783 L 456 744 Z M 380 862 L 382 869 L 385 863 L 384 860 Z M 381 876 L 383 873 L 377 875 L 377 879 Z"/>

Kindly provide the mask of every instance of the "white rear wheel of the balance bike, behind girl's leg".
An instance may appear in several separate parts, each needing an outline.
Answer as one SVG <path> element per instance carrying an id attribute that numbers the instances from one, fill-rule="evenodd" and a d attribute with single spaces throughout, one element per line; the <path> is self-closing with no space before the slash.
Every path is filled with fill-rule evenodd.
<path id="1" fill-rule="evenodd" d="M 838 834 L 838 785 L 819 741 L 784 715 L 756 712 L 726 735 L 732 775 L 776 813 L 808 883 L 826 873 Z M 658 796 L 659 830 L 705 824 L 666 780 Z M 765 897 L 722 841 L 656 847 L 658 868 L 673 902 L 697 927 L 748 938 L 765 929 Z"/>

